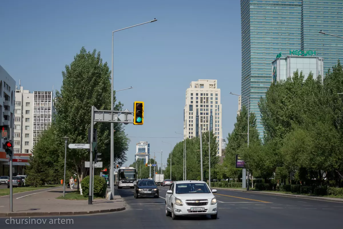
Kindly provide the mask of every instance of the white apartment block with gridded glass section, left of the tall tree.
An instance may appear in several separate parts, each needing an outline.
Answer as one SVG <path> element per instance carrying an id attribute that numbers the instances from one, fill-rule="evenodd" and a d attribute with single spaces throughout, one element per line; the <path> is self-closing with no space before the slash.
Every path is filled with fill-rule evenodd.
<path id="1" fill-rule="evenodd" d="M 15 91 L 13 153 L 30 156 L 37 137 L 49 126 L 55 113 L 52 92 L 33 92 L 22 86 Z"/>

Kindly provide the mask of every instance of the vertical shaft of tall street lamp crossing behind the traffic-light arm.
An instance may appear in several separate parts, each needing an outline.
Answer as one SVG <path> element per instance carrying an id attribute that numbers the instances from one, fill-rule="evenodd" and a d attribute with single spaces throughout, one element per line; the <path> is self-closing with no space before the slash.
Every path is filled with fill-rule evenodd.
<path id="1" fill-rule="evenodd" d="M 112 32 L 112 71 L 111 71 L 111 110 L 113 110 L 113 34 L 114 32 Z M 93 121 L 94 119 L 92 119 Z M 92 132 L 93 133 L 93 132 Z M 113 148 L 114 148 L 114 123 L 111 122 L 111 147 L 110 147 L 110 177 L 109 177 L 109 185 L 110 185 L 110 189 L 111 189 L 111 197 L 110 199 L 112 199 L 113 193 L 114 193 L 114 152 L 113 152 Z M 93 139 L 93 138 L 91 138 Z"/>

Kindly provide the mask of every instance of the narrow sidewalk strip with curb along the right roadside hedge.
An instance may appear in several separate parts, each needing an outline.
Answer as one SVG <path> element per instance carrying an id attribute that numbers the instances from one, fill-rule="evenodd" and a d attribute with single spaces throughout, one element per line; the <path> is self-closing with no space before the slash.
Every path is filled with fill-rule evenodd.
<path id="1" fill-rule="evenodd" d="M 262 191 L 247 191 L 241 189 L 226 189 L 226 188 L 213 188 L 218 190 L 229 190 L 229 191 L 237 191 L 237 192 L 248 192 L 248 193 L 256 193 L 262 195 L 274 195 L 274 196 L 284 196 L 284 197 L 291 197 L 291 198 L 301 198 L 301 199 L 309 199 L 309 200 L 320 200 L 320 201 L 329 201 L 329 202 L 342 202 L 342 198 L 331 198 L 331 197 L 321 197 L 321 196 L 306 196 L 306 195 L 299 195 L 299 194 L 286 194 L 286 193 L 275 193 L 275 192 L 262 192 Z"/>

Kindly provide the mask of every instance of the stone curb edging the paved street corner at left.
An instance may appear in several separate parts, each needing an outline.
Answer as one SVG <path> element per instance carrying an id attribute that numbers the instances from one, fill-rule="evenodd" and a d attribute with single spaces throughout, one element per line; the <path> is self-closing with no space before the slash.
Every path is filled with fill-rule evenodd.
<path id="1" fill-rule="evenodd" d="M 84 211 L 84 212 L 11 212 L 0 213 L 0 217 L 28 217 L 28 216 L 76 216 L 76 215 L 91 215 L 99 213 L 120 212 L 125 210 L 126 207 L 111 208 L 104 210 Z"/>

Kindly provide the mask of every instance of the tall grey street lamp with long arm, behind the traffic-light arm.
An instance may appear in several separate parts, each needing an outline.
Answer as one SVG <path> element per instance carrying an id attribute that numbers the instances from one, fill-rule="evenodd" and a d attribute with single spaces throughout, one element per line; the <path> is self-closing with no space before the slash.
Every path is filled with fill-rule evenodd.
<path id="1" fill-rule="evenodd" d="M 150 23 L 150 22 L 155 22 L 157 21 L 157 19 L 155 18 L 154 20 L 152 21 L 149 21 L 149 22 L 144 22 L 144 23 L 141 23 L 141 24 L 138 24 L 138 25 L 133 25 L 133 26 L 130 26 L 130 27 L 126 27 L 126 28 L 122 28 L 122 29 L 118 29 L 118 30 L 115 30 L 115 31 L 112 31 L 112 71 L 111 71 L 111 110 L 113 110 L 113 107 L 114 107 L 114 101 L 113 101 L 113 85 L 114 85 L 114 80 L 113 80 L 113 36 L 114 36 L 114 33 L 115 32 L 118 32 L 118 31 L 121 31 L 121 30 L 124 30 L 124 29 L 128 29 L 128 28 L 132 28 L 132 27 L 135 27 L 135 26 L 139 26 L 139 25 L 144 25 L 144 24 L 147 24 L 147 23 Z M 110 150 L 111 150 L 111 158 L 110 158 L 110 179 L 109 179 L 109 183 L 110 183 L 110 189 L 111 189 L 111 195 L 113 196 L 113 193 L 114 193 L 114 124 L 113 122 L 111 122 L 111 147 L 110 147 Z"/>

